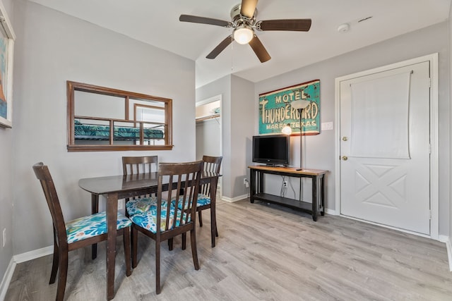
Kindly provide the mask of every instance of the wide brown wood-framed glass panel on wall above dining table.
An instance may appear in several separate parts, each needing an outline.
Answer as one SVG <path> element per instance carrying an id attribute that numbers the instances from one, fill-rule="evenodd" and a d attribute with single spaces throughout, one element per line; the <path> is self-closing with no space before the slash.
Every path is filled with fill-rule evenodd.
<path id="1" fill-rule="evenodd" d="M 172 99 L 67 81 L 69 152 L 172 149 Z"/>

